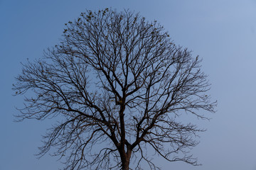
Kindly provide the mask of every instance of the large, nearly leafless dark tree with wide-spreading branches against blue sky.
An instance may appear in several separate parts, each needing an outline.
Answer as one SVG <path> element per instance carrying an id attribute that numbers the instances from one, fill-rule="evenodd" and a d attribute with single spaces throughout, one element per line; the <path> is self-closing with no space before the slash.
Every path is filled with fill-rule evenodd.
<path id="1" fill-rule="evenodd" d="M 23 64 L 14 90 L 33 95 L 18 118 L 58 118 L 39 155 L 55 147 L 65 169 L 159 169 L 149 148 L 197 165 L 189 151 L 204 130 L 180 117 L 214 112 L 200 62 L 156 21 L 129 10 L 87 11 L 65 24 L 43 59 Z"/>

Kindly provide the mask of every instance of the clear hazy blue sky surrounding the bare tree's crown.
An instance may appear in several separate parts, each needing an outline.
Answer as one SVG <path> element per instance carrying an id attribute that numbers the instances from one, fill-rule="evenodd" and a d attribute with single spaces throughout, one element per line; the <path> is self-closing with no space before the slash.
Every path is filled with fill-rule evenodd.
<path id="1" fill-rule="evenodd" d="M 218 101 L 207 131 L 192 150 L 202 166 L 166 162 L 163 170 L 256 170 L 256 1 L 255 0 L 0 0 L 0 169 L 58 169 L 56 157 L 37 159 L 41 135 L 51 120 L 14 123 L 22 96 L 12 96 L 21 62 L 43 56 L 58 43 L 64 23 L 86 9 L 130 8 L 159 21 L 177 45 L 203 58 L 202 69 Z"/>

